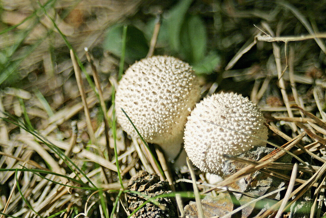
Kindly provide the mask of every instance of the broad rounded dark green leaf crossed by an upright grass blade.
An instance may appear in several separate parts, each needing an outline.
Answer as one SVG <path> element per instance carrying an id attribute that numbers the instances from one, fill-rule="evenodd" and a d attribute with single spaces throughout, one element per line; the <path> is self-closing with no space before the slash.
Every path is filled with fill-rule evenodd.
<path id="1" fill-rule="evenodd" d="M 114 25 L 108 29 L 104 41 L 104 48 L 118 57 L 121 56 L 122 51 L 122 35 L 123 25 Z M 145 58 L 148 49 L 149 47 L 143 32 L 134 26 L 128 26 L 125 61 L 131 64 L 136 60 Z"/>

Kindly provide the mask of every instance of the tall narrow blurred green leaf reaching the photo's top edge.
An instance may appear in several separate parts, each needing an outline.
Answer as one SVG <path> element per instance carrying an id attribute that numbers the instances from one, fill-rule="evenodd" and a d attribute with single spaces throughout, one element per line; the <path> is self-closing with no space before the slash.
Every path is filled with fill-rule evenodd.
<path id="1" fill-rule="evenodd" d="M 180 29 L 185 19 L 185 14 L 193 0 L 182 0 L 170 10 L 168 15 L 168 31 L 170 47 L 174 52 L 180 48 Z"/>

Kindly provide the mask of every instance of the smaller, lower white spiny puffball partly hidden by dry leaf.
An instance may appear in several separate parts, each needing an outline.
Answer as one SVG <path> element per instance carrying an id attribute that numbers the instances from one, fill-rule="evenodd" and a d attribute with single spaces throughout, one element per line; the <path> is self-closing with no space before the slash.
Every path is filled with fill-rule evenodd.
<path id="1" fill-rule="evenodd" d="M 259 140 L 268 138 L 264 122 L 262 113 L 247 97 L 236 93 L 213 94 L 196 104 L 188 117 L 185 151 L 202 172 L 222 175 L 223 154 L 238 155 L 266 145 Z"/>

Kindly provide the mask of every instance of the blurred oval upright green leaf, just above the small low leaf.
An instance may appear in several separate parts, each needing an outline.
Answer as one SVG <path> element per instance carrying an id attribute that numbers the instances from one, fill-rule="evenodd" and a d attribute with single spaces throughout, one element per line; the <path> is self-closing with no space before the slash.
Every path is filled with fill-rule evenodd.
<path id="1" fill-rule="evenodd" d="M 196 63 L 204 58 L 207 36 L 204 22 L 199 16 L 188 16 L 182 25 L 180 33 L 180 52 L 190 63 Z"/>

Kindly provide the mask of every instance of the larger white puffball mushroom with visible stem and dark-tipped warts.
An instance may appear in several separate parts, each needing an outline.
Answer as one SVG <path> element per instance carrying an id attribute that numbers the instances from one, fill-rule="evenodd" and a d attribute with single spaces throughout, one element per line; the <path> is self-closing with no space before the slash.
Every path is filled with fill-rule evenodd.
<path id="1" fill-rule="evenodd" d="M 199 80 L 188 63 L 167 56 L 142 59 L 119 82 L 117 121 L 126 133 L 138 137 L 122 108 L 144 140 L 160 145 L 171 160 L 180 151 L 187 116 L 199 98 Z"/>

